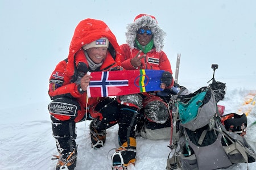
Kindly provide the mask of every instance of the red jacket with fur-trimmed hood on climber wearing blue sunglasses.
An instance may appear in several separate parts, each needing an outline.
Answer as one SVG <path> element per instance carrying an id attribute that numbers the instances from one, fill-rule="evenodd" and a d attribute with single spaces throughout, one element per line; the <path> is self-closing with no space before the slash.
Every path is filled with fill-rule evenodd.
<path id="1" fill-rule="evenodd" d="M 150 30 L 153 33 L 152 39 L 154 40 L 154 47 L 146 53 L 146 57 L 141 59 L 142 65 L 138 68 L 134 68 L 131 65 L 131 58 L 134 58 L 139 49 L 135 45 L 135 39 L 137 37 L 137 31 L 141 27 L 150 27 Z M 136 16 L 133 23 L 127 25 L 126 32 L 126 42 L 127 44 L 122 44 L 121 48 L 121 66 L 125 70 L 133 69 L 149 69 L 149 70 L 165 70 L 169 71 L 172 74 L 171 63 L 166 55 L 163 52 L 164 36 L 166 33 L 159 27 L 154 16 L 147 14 L 140 14 Z M 141 56 L 144 53 L 141 53 Z M 172 81 L 171 86 L 173 86 L 174 80 Z M 171 87 L 170 86 L 170 87 Z"/>

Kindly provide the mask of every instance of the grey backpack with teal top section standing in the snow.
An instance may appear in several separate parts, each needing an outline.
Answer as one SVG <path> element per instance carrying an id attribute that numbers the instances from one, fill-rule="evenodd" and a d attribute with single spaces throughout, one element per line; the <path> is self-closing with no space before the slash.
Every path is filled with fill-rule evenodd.
<path id="1" fill-rule="evenodd" d="M 171 152 L 166 169 L 220 169 L 255 162 L 253 148 L 221 123 L 214 92 L 201 87 L 170 101 Z"/>

